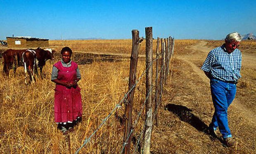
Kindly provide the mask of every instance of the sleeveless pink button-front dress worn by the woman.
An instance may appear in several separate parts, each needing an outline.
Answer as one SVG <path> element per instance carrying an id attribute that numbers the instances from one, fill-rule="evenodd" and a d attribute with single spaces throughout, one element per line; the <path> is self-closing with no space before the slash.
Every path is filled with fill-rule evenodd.
<path id="1" fill-rule="evenodd" d="M 57 79 L 63 82 L 73 82 L 76 79 L 77 64 L 71 62 L 71 67 L 63 67 L 59 61 L 54 66 L 58 69 Z M 73 122 L 82 117 L 82 99 L 80 88 L 67 88 L 64 85 L 56 85 L 54 99 L 55 122 Z"/>

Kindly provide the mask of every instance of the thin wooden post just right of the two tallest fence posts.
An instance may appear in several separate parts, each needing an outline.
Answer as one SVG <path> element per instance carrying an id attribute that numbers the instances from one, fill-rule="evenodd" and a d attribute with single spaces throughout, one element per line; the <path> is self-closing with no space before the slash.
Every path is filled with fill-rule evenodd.
<path id="1" fill-rule="evenodd" d="M 156 93 L 155 93 L 155 119 L 156 119 L 156 126 L 158 126 L 158 112 L 157 112 L 157 107 L 158 107 L 158 101 L 159 101 L 159 96 L 158 96 L 158 91 L 159 91 L 159 83 L 158 83 L 158 58 L 159 58 L 159 37 L 157 37 L 157 43 L 156 43 Z"/>

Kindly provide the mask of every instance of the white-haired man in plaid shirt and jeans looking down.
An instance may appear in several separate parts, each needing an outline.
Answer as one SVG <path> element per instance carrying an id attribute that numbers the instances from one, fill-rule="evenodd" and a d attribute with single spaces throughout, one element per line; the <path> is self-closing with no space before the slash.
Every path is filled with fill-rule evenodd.
<path id="1" fill-rule="evenodd" d="M 241 40 L 237 32 L 228 34 L 225 44 L 210 51 L 201 67 L 210 79 L 215 108 L 209 131 L 216 137 L 215 131 L 219 128 L 223 142 L 228 147 L 236 143 L 228 127 L 228 106 L 235 99 L 237 80 L 241 78 L 242 54 L 237 49 Z"/>

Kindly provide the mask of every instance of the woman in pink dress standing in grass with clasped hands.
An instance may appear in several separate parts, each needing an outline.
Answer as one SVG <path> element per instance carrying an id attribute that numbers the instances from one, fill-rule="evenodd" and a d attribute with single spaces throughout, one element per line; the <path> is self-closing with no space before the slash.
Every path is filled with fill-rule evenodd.
<path id="1" fill-rule="evenodd" d="M 54 113 L 57 128 L 64 135 L 73 131 L 73 126 L 82 120 L 82 99 L 77 83 L 81 74 L 76 62 L 71 61 L 72 50 L 62 48 L 62 59 L 52 68 L 52 82 L 56 83 Z"/>

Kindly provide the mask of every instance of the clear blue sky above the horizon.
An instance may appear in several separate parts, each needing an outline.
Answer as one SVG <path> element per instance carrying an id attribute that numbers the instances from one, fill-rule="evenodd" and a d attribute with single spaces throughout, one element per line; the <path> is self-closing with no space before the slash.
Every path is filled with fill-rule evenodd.
<path id="1" fill-rule="evenodd" d="M 0 0 L 0 39 L 223 39 L 256 34 L 256 0 Z"/>

